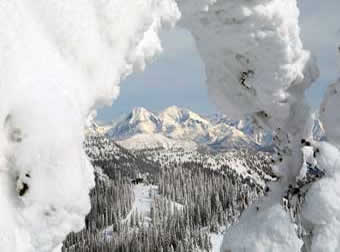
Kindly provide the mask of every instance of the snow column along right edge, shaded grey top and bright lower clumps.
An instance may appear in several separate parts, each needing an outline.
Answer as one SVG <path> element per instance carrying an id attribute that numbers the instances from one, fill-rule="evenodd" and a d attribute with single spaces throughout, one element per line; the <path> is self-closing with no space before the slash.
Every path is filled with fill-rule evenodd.
<path id="1" fill-rule="evenodd" d="M 340 48 L 338 47 L 338 56 Z M 314 157 L 325 176 L 309 189 L 303 217 L 313 236 L 308 252 L 340 250 L 340 79 L 328 87 L 320 107 L 320 119 L 328 142 L 313 142 Z"/>

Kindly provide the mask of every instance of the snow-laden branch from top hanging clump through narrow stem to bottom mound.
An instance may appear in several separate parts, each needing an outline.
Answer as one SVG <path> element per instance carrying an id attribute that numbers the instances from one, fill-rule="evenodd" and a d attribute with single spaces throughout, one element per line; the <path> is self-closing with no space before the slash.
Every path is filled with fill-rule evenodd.
<path id="1" fill-rule="evenodd" d="M 296 183 L 301 139 L 311 135 L 304 91 L 318 77 L 303 49 L 296 0 L 178 0 L 180 24 L 193 34 L 205 64 L 207 86 L 231 117 L 251 114 L 276 133 L 276 173 L 264 199 L 226 234 L 225 252 L 299 251 L 303 243 L 280 201 Z"/>

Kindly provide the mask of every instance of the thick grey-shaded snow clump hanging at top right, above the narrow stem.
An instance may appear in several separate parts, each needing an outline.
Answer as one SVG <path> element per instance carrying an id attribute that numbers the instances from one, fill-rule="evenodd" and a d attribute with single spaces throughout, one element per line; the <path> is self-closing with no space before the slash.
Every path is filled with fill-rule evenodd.
<path id="1" fill-rule="evenodd" d="M 318 74 L 299 38 L 296 1 L 182 0 L 179 8 L 220 109 L 231 118 L 265 111 L 271 124 L 286 122 L 295 102 L 289 88 L 304 89 Z"/>

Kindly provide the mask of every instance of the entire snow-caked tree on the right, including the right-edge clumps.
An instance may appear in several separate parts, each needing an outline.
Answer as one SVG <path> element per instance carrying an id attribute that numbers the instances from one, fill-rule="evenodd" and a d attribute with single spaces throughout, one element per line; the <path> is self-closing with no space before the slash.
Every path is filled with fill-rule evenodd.
<path id="1" fill-rule="evenodd" d="M 180 24 L 196 40 L 209 91 L 220 109 L 232 117 L 250 114 L 259 127 L 275 133 L 274 168 L 280 180 L 269 185 L 266 196 L 226 233 L 222 251 L 338 251 L 340 84 L 329 88 L 320 111 L 329 143 L 314 142 L 304 93 L 319 72 L 300 40 L 297 1 L 178 4 Z M 301 186 L 308 148 L 313 168 L 325 176 Z M 285 197 L 295 218 L 281 206 Z"/>

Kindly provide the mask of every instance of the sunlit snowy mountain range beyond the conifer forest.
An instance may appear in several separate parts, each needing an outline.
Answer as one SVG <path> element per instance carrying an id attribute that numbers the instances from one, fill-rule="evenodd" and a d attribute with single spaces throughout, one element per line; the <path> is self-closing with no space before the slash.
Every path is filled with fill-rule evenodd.
<path id="1" fill-rule="evenodd" d="M 204 147 L 224 151 L 259 149 L 272 142 L 271 134 L 256 129 L 250 119 L 230 120 L 220 114 L 203 116 L 177 106 L 160 113 L 134 108 L 106 133 L 128 149 Z"/>

